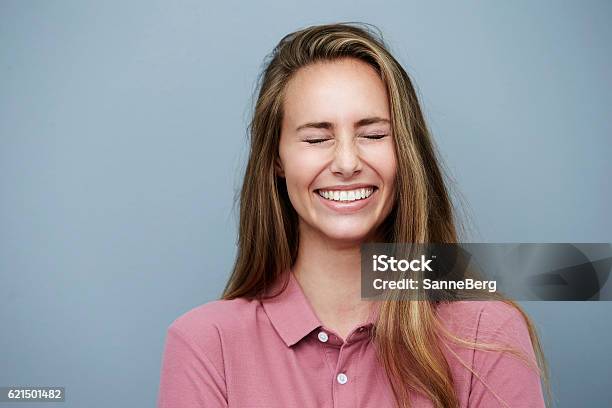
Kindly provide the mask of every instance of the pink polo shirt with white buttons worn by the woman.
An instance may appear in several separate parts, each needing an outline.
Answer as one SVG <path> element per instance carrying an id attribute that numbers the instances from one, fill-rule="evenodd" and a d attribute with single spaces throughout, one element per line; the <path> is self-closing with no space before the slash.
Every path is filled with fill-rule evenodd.
<path id="1" fill-rule="evenodd" d="M 437 310 L 456 334 L 513 345 L 535 358 L 524 320 L 502 302 L 462 301 Z M 371 327 L 370 320 L 341 339 L 322 325 L 292 273 L 274 299 L 203 304 L 168 328 L 158 407 L 394 407 Z M 451 345 L 477 378 L 442 349 L 461 407 L 545 406 L 538 375 L 517 357 Z M 411 403 L 433 407 L 416 393 Z"/>

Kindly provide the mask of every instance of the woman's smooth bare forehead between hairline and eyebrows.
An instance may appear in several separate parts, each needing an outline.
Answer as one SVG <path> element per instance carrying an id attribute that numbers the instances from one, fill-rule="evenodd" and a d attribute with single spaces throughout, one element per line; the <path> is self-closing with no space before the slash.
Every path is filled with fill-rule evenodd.
<path id="1" fill-rule="evenodd" d="M 300 68 L 284 92 L 283 122 L 325 120 L 333 123 L 363 117 L 389 118 L 387 89 L 369 64 L 353 59 L 316 62 Z"/>

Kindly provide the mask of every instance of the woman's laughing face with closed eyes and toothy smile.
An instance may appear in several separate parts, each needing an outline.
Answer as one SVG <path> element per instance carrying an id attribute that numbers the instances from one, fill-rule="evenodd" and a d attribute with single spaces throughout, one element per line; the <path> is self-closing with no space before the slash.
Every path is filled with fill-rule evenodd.
<path id="1" fill-rule="evenodd" d="M 393 207 L 396 157 L 385 84 L 356 59 L 317 62 L 285 88 L 277 173 L 300 233 L 361 242 Z"/>

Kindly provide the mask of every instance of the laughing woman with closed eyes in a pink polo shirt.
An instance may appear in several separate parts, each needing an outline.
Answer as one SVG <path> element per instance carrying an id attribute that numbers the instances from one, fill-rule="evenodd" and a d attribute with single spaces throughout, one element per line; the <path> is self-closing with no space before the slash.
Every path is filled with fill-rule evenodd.
<path id="1" fill-rule="evenodd" d="M 268 61 L 222 299 L 168 329 L 160 407 L 542 407 L 510 301 L 360 297 L 365 242 L 458 242 L 410 79 L 367 25 L 309 27 Z"/>

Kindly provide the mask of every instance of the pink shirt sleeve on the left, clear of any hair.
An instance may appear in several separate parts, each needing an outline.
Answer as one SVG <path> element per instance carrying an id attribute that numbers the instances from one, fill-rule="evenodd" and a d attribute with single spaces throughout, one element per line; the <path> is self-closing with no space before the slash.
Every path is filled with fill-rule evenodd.
<path id="1" fill-rule="evenodd" d="M 162 358 L 158 408 L 226 408 L 225 379 L 188 337 L 170 326 Z"/>

